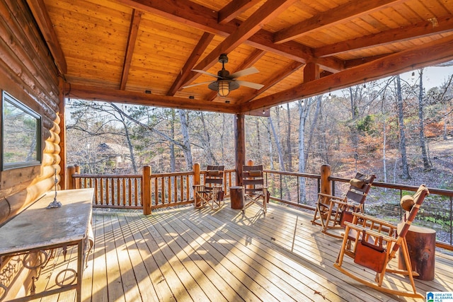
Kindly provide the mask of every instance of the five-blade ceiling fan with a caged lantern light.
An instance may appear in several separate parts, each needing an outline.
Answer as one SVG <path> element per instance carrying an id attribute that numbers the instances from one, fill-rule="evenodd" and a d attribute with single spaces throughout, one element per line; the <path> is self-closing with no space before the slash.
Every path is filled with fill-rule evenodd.
<path id="1" fill-rule="evenodd" d="M 228 57 L 226 54 L 220 54 L 219 62 L 222 63 L 222 69 L 217 72 L 217 76 L 215 74 L 211 74 L 210 72 L 199 70 L 199 69 L 192 69 L 192 71 L 200 72 L 200 74 L 207 74 L 208 76 L 214 76 L 217 78 L 216 81 L 207 81 L 202 83 L 196 83 L 193 85 L 184 86 L 183 88 L 189 88 L 193 86 L 198 86 L 206 83 L 210 83 L 207 88 L 210 88 L 213 91 L 217 91 L 219 96 L 226 96 L 229 95 L 230 91 L 234 91 L 235 89 L 239 88 L 239 86 L 246 86 L 253 89 L 261 89 L 264 85 L 251 83 L 248 81 L 241 81 L 236 80 L 239 76 L 247 76 L 248 74 L 256 74 L 260 71 L 255 67 L 250 67 L 247 69 L 243 69 L 241 71 L 237 71 L 234 74 L 229 74 L 229 71 L 225 69 L 225 63 L 228 62 Z"/>

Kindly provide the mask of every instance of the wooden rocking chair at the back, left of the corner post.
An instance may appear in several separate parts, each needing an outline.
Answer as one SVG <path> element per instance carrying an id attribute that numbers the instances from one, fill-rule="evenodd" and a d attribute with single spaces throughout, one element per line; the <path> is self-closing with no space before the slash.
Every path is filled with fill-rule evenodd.
<path id="1" fill-rule="evenodd" d="M 200 209 L 208 204 L 217 210 L 224 204 L 224 165 L 208 165 L 204 185 L 194 185 L 195 208 Z"/>

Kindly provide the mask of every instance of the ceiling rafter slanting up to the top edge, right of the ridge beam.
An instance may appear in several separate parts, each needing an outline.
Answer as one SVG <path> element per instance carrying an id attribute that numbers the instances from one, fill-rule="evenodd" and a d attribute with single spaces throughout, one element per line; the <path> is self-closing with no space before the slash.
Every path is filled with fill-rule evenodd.
<path id="1" fill-rule="evenodd" d="M 317 16 L 307 19 L 306 21 L 299 22 L 277 31 L 274 34 L 273 41 L 275 43 L 287 42 L 294 40 L 306 33 L 310 33 L 312 30 L 319 30 L 325 26 L 333 25 L 336 23 L 343 23 L 349 21 L 357 16 L 372 13 L 379 9 L 389 6 L 389 4 L 395 4 L 403 0 L 355 0 L 348 1 L 348 3 L 332 8 L 325 11 Z"/>

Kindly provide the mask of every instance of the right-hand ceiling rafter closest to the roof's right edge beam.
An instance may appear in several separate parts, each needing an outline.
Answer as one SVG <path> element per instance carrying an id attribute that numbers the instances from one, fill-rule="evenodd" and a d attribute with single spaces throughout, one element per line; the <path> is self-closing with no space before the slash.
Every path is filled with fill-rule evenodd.
<path id="1" fill-rule="evenodd" d="M 437 25 L 436 25 L 437 24 Z M 357 37 L 352 40 L 338 42 L 336 44 L 326 45 L 314 50 L 315 57 L 326 57 L 343 52 L 352 52 L 362 50 L 367 47 L 387 45 L 394 42 L 402 42 L 428 35 L 447 33 L 453 30 L 453 16 L 437 18 L 437 23 L 432 20 L 422 21 L 403 28 L 394 28 L 374 35 Z"/>

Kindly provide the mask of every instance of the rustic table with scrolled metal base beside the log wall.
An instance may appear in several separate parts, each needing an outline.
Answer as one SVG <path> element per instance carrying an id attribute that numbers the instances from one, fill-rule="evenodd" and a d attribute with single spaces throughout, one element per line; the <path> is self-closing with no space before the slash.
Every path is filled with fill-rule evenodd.
<path id="1" fill-rule="evenodd" d="M 81 301 L 82 274 L 91 246 L 88 233 L 91 229 L 93 192 L 93 189 L 58 191 L 57 199 L 62 202 L 62 207 L 46 209 L 55 198 L 53 192 L 48 193 L 1 226 L 0 257 L 23 255 L 23 266 L 34 271 L 30 274 L 30 295 L 8 297 L 13 298 L 11 301 L 29 301 L 72 289 L 76 289 L 76 299 Z M 49 261 L 52 250 L 63 248 L 66 251 L 73 245 L 77 246 L 76 269 L 67 268 L 59 272 L 55 278 L 55 289 L 35 292 L 36 276 Z M 38 263 L 30 261 L 32 258 L 37 258 L 35 262 Z M 1 284 L 1 287 L 7 291 L 8 285 Z"/>

